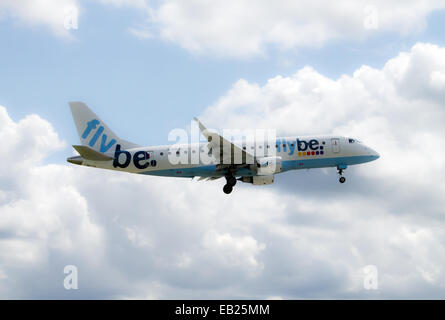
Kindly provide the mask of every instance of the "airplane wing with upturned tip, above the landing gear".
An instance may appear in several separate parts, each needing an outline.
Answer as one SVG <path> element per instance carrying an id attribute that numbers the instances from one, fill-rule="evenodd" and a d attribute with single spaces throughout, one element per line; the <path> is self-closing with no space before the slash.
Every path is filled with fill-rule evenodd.
<path id="1" fill-rule="evenodd" d="M 212 155 L 219 160 L 220 167 L 230 167 L 230 166 L 243 166 L 246 164 L 254 164 L 255 156 L 242 149 L 241 147 L 235 145 L 231 141 L 223 138 L 216 132 L 207 130 L 207 128 L 199 121 L 198 118 L 194 118 L 199 125 L 204 137 L 209 142 L 209 149 Z M 236 161 L 235 161 L 236 160 Z"/>

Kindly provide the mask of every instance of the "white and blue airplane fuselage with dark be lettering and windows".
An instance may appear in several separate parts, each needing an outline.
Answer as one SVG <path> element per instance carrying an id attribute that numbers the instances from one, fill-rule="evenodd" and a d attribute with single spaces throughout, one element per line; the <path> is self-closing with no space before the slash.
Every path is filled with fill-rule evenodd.
<path id="1" fill-rule="evenodd" d="M 263 149 L 263 154 L 281 158 L 281 170 L 276 173 L 295 169 L 324 167 L 346 168 L 379 158 L 377 152 L 365 144 L 341 136 L 279 137 L 273 143 L 234 142 L 252 154 Z M 250 149 L 250 150 L 249 150 Z M 109 153 L 112 160 L 93 161 L 81 157 L 70 158 L 73 163 L 91 167 L 126 171 L 130 173 L 192 178 L 224 176 L 218 169 L 218 162 L 209 161 L 209 149 L 206 142 L 152 146 L 124 150 L 116 145 L 114 153 Z M 202 159 L 202 155 L 206 155 Z M 175 159 L 177 158 L 177 159 Z M 198 159 L 198 161 L 193 161 Z M 173 160 L 173 161 L 172 161 Z M 207 160 L 207 161 L 204 161 Z M 236 176 L 255 176 L 256 170 L 249 167 L 239 168 Z"/>

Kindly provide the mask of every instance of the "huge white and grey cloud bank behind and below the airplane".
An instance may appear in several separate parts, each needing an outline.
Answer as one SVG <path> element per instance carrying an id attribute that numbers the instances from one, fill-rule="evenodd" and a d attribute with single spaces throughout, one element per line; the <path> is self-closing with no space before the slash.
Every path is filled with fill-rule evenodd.
<path id="1" fill-rule="evenodd" d="M 445 111 L 440 81 L 424 82 L 443 73 L 443 50 L 417 44 L 339 79 L 306 67 L 240 80 L 204 113 L 213 127 L 360 138 L 382 157 L 348 168 L 345 185 L 334 169 L 295 171 L 227 196 L 219 180 L 43 164 L 64 146 L 52 126 L 0 108 L 0 296 L 444 298 Z M 68 264 L 77 291 L 63 289 Z"/>

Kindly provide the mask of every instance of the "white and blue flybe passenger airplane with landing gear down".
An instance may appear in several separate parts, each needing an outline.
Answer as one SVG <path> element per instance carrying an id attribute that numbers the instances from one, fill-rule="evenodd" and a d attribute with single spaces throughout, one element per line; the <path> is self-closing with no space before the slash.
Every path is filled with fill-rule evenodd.
<path id="1" fill-rule="evenodd" d="M 79 155 L 69 157 L 69 163 L 164 177 L 199 177 L 198 180 L 224 177 L 226 194 L 232 192 L 237 181 L 267 185 L 274 182 L 275 174 L 298 169 L 335 167 L 339 182 L 344 183 L 343 172 L 348 166 L 380 157 L 359 140 L 338 135 L 276 137 L 253 143 L 229 141 L 208 130 L 196 118 L 207 142 L 141 147 L 118 138 L 85 103 L 69 105 L 81 140 L 81 145 L 73 145 Z M 263 152 L 256 152 L 261 149 Z M 201 155 L 211 161 L 202 161 Z M 172 161 L 181 156 L 187 160 L 199 157 L 194 162 Z"/>

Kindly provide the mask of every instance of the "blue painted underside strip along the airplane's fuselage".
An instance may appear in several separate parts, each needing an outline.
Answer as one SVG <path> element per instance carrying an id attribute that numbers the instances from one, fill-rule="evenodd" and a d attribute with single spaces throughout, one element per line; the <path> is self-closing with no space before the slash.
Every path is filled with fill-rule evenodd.
<path id="1" fill-rule="evenodd" d="M 307 160 L 288 160 L 282 162 L 282 172 L 295 170 L 295 169 L 312 169 L 312 168 L 324 168 L 324 167 L 340 167 L 346 168 L 348 165 L 360 164 L 370 162 L 378 159 L 378 156 L 352 156 L 352 157 L 339 157 L 339 158 L 320 158 L 320 159 L 307 159 Z M 216 165 L 205 165 L 192 168 L 181 169 L 167 169 L 167 170 L 151 170 L 142 172 L 141 174 L 164 176 L 164 177 L 183 177 L 193 178 L 199 177 L 214 177 L 223 176 L 221 171 L 216 171 Z M 252 176 L 254 173 L 247 169 L 242 168 L 236 172 L 236 176 Z"/>

